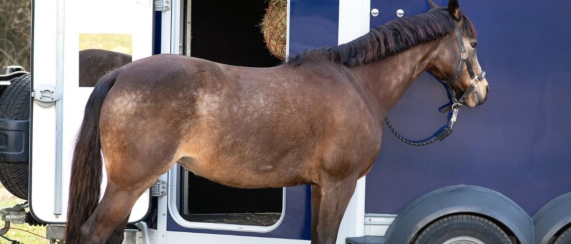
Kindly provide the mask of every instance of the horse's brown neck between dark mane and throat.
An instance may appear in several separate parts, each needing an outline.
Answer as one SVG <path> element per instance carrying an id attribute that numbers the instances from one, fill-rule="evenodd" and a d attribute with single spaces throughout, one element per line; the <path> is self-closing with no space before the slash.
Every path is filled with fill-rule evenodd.
<path id="1" fill-rule="evenodd" d="M 412 82 L 427 70 L 437 41 L 431 41 L 401 51 L 380 61 L 354 67 L 365 89 L 377 102 L 380 117 L 384 119 L 388 111 L 403 97 Z"/>

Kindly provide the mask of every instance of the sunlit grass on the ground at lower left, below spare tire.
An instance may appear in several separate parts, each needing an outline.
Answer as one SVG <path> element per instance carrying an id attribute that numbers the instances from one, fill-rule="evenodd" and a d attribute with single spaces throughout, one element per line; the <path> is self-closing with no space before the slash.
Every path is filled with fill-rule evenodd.
<path id="1" fill-rule="evenodd" d="M 14 205 L 22 202 L 24 202 L 24 200 L 14 197 L 12 194 L 10 194 L 8 190 L 6 190 L 6 188 L 2 184 L 0 184 L 0 209 L 3 209 L 5 207 L 13 207 Z M 0 222 L 0 229 L 2 229 L 2 227 L 4 227 L 3 221 Z M 45 226 L 30 226 L 28 224 L 14 225 L 13 223 L 10 223 L 10 227 L 30 231 L 31 233 L 38 234 L 42 237 L 46 236 Z M 46 239 L 43 239 L 41 237 L 38 237 L 30 233 L 26 233 L 25 231 L 22 230 L 10 229 L 8 233 L 6 233 L 4 236 L 13 239 L 15 241 L 19 241 L 20 243 L 26 243 L 26 244 L 50 243 Z M 10 244 L 10 243 L 11 242 L 6 241 L 6 239 L 4 238 L 0 238 L 0 244 Z"/>

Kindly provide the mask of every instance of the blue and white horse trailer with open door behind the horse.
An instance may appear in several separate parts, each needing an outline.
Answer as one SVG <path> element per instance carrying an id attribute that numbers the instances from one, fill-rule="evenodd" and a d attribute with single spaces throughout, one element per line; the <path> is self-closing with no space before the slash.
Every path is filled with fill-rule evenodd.
<path id="1" fill-rule="evenodd" d="M 272 67 L 282 60 L 260 21 L 275 1 L 33 1 L 30 73 L 0 72 L 0 179 L 28 208 L 2 209 L 2 220 L 63 239 L 74 140 L 93 91 L 79 70 L 107 64 L 81 61 L 85 43 L 123 43 L 108 50 L 129 62 L 180 54 Z M 385 126 L 336 243 L 571 243 L 571 2 L 460 5 L 478 31 L 488 101 L 460 110 L 455 133 L 430 145 L 407 145 Z M 337 46 L 429 9 L 425 0 L 287 0 L 284 51 Z M 425 72 L 388 117 L 404 137 L 432 138 L 451 118 L 439 112 L 450 97 Z M 25 116 L 7 113 L 15 109 Z M 238 189 L 175 165 L 135 203 L 124 243 L 309 243 L 311 229 L 309 185 Z"/>

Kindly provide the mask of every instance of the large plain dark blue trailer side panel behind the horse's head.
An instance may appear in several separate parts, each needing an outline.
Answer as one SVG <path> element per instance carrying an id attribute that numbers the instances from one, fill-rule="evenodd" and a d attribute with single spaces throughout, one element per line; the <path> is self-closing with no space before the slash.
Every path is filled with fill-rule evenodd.
<path id="1" fill-rule="evenodd" d="M 389 14 L 415 6 L 416 14 L 419 7 L 428 10 L 424 3 L 372 0 L 371 6 L 394 5 L 385 7 Z M 571 2 L 481 0 L 460 6 L 479 33 L 488 101 L 463 107 L 454 133 L 429 146 L 405 145 L 385 130 L 367 176 L 367 213 L 397 214 L 431 190 L 467 184 L 496 190 L 532 215 L 571 191 Z M 443 86 L 424 74 L 389 118 L 405 137 L 423 139 L 444 125 L 437 108 L 445 103 Z"/>

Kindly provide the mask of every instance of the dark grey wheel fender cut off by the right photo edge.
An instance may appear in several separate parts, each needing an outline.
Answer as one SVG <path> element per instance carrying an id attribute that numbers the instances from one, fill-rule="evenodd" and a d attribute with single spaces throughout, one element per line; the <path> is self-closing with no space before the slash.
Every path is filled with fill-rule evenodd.
<path id="1" fill-rule="evenodd" d="M 545 203 L 533 214 L 535 243 L 550 243 L 550 239 L 571 223 L 571 193 L 565 193 Z"/>

